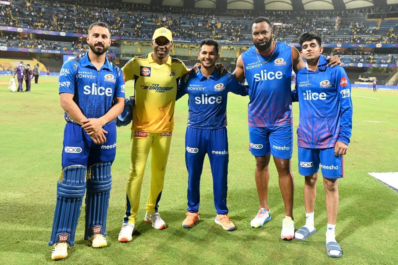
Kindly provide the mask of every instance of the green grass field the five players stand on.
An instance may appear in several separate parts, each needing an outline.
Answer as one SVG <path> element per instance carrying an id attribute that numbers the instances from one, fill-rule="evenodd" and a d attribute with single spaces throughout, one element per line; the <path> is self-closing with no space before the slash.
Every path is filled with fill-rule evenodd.
<path id="1" fill-rule="evenodd" d="M 10 93 L 10 77 L 0 77 L 0 263 L 44 264 L 51 261 L 49 241 L 55 208 L 57 179 L 61 171 L 65 121 L 59 105 L 57 79 L 40 77 L 31 93 Z M 127 95 L 133 93 L 127 85 Z M 284 214 L 275 166 L 271 162 L 269 207 L 272 220 L 262 228 L 250 228 L 258 210 L 254 182 L 254 158 L 248 151 L 248 98 L 229 95 L 228 208 L 237 230 L 226 232 L 215 224 L 211 171 L 205 160 L 201 180 L 201 220 L 194 228 L 181 227 L 186 212 L 187 172 L 184 135 L 187 96 L 175 111 L 175 129 L 159 212 L 167 228 L 155 230 L 144 222 L 149 192 L 150 160 L 142 186 L 137 232 L 133 241 L 117 241 L 125 205 L 129 168 L 130 129 L 118 128 L 117 154 L 112 166 L 113 186 L 107 221 L 108 246 L 93 249 L 84 242 L 84 205 L 76 232 L 76 245 L 57 264 L 398 264 L 398 194 L 367 172 L 398 170 L 398 91 L 355 89 L 353 134 L 345 157 L 344 179 L 339 180 L 340 204 L 336 239 L 343 257 L 326 255 L 324 187 L 318 181 L 315 226 L 304 242 L 280 240 Z M 370 99 L 375 97 L 380 100 Z M 296 103 L 295 103 L 296 104 Z M 293 105 L 294 127 L 298 105 Z M 369 121 L 382 121 L 373 123 Z M 296 134 L 295 134 L 296 136 Z M 297 138 L 295 137 L 295 143 Z M 296 146 L 296 144 L 294 145 Z M 292 167 L 295 175 L 296 228 L 305 222 L 303 177 L 298 174 L 297 148 Z"/>

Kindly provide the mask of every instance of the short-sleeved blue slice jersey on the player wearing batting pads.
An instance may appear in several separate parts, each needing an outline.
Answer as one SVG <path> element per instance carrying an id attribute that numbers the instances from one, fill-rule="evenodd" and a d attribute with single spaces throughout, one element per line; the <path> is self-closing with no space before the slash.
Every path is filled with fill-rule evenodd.
<path id="1" fill-rule="evenodd" d="M 58 82 L 59 94 L 73 94 L 73 101 L 87 118 L 100 118 L 113 105 L 113 97 L 125 97 L 125 82 L 119 67 L 105 57 L 98 71 L 88 53 L 82 58 L 67 60 L 62 65 Z M 65 120 L 72 122 L 65 113 Z M 114 123 L 115 120 L 110 123 Z"/>

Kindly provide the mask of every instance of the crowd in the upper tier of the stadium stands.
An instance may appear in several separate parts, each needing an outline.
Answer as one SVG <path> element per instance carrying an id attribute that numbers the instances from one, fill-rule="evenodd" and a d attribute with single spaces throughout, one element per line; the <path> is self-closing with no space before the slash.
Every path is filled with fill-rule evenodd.
<path id="1" fill-rule="evenodd" d="M 211 37 L 231 42 L 250 42 L 251 22 L 257 14 L 193 14 L 192 12 L 143 12 L 119 10 L 111 6 L 83 6 L 57 1 L 12 1 L 0 4 L 0 19 L 4 25 L 63 32 L 84 33 L 94 21 L 105 21 L 112 34 L 121 37 L 150 39 L 153 29 L 160 25 L 170 28 L 174 37 L 200 41 Z M 235 15 L 235 16 L 234 16 Z M 377 29 L 376 21 L 366 20 L 366 14 L 339 16 L 265 14 L 274 25 L 274 38 L 297 42 L 303 31 L 316 31 L 324 43 L 397 43 L 398 19 L 383 20 Z M 76 19 L 77 18 L 77 19 Z"/>

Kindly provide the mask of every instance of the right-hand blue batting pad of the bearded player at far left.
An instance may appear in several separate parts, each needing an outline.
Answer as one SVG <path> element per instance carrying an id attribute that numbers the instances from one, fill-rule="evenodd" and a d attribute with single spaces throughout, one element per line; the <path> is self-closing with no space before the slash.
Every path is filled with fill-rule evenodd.
<path id="1" fill-rule="evenodd" d="M 111 163 L 94 164 L 89 168 L 84 240 L 89 240 L 94 234 L 106 236 L 106 216 L 111 185 Z"/>

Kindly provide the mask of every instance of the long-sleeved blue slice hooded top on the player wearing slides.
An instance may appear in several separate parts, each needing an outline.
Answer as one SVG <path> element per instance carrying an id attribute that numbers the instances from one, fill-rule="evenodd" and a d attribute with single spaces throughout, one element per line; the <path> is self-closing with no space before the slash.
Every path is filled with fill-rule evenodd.
<path id="1" fill-rule="evenodd" d="M 299 101 L 300 123 L 297 145 L 331 148 L 336 141 L 349 144 L 352 129 L 351 83 L 343 67 L 326 67 L 319 57 L 318 70 L 297 72 L 293 101 Z M 308 80 L 307 80 L 308 74 Z"/>

